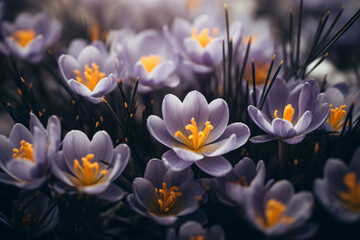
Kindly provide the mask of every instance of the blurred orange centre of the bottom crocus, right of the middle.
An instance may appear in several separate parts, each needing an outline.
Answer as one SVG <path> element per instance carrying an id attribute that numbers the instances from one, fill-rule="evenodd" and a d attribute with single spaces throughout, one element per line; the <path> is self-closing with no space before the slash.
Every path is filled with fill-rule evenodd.
<path id="1" fill-rule="evenodd" d="M 294 222 L 293 217 L 284 216 L 286 206 L 274 198 L 271 198 L 266 203 L 265 219 L 260 217 L 258 221 L 266 228 L 270 228 L 277 223 L 292 224 Z"/>

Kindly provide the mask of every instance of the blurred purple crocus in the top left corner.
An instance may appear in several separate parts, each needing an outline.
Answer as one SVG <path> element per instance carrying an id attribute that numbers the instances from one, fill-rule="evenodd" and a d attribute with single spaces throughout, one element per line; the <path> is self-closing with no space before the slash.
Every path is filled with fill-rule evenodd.
<path id="1" fill-rule="evenodd" d="M 14 23 L 2 23 L 5 54 L 14 54 L 30 63 L 39 63 L 47 48 L 55 43 L 61 34 L 59 21 L 51 19 L 45 13 L 32 16 L 29 13 L 19 14 Z"/>

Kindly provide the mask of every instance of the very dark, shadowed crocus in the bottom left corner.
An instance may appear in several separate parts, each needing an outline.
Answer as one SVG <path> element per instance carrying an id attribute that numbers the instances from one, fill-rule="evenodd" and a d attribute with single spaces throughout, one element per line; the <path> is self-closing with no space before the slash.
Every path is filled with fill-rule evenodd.
<path id="1" fill-rule="evenodd" d="M 21 233 L 37 238 L 56 227 L 59 208 L 42 193 L 34 195 L 32 192 L 22 191 L 19 199 L 14 201 L 12 222 L 13 227 L 20 229 Z"/>

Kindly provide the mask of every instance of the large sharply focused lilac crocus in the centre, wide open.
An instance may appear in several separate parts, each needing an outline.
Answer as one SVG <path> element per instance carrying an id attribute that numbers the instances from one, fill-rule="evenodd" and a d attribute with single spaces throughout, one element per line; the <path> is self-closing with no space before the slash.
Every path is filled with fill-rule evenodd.
<path id="1" fill-rule="evenodd" d="M 149 116 L 147 127 L 153 137 L 171 148 L 162 155 L 165 165 L 182 170 L 195 164 L 212 176 L 223 176 L 232 166 L 221 155 L 244 145 L 250 135 L 243 123 L 229 121 L 229 109 L 223 99 L 210 104 L 198 91 L 188 93 L 183 102 L 168 94 L 162 103 L 162 115 Z"/>

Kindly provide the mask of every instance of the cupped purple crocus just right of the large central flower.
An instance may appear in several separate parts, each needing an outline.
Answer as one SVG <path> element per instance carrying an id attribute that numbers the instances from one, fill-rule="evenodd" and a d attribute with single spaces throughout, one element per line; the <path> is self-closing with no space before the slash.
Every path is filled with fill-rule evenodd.
<path id="1" fill-rule="evenodd" d="M 248 107 L 251 120 L 267 133 L 250 141 L 263 143 L 279 139 L 289 144 L 301 142 L 329 116 L 329 105 L 321 104 L 318 94 L 318 85 L 313 80 L 287 84 L 282 78 L 275 79 L 263 109 L 253 105 Z"/>

